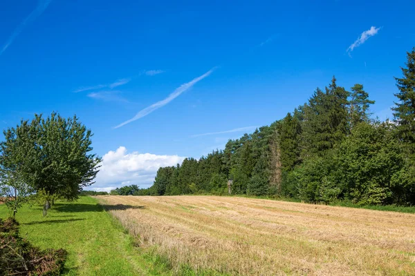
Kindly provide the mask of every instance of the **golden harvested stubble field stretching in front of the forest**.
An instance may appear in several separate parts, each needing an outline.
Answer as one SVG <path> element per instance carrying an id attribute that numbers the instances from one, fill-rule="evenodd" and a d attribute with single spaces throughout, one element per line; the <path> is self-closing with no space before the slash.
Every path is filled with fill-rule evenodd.
<path id="1" fill-rule="evenodd" d="M 174 268 L 228 275 L 415 275 L 415 215 L 214 196 L 99 197 Z M 113 206 L 113 207 L 111 207 Z"/>

